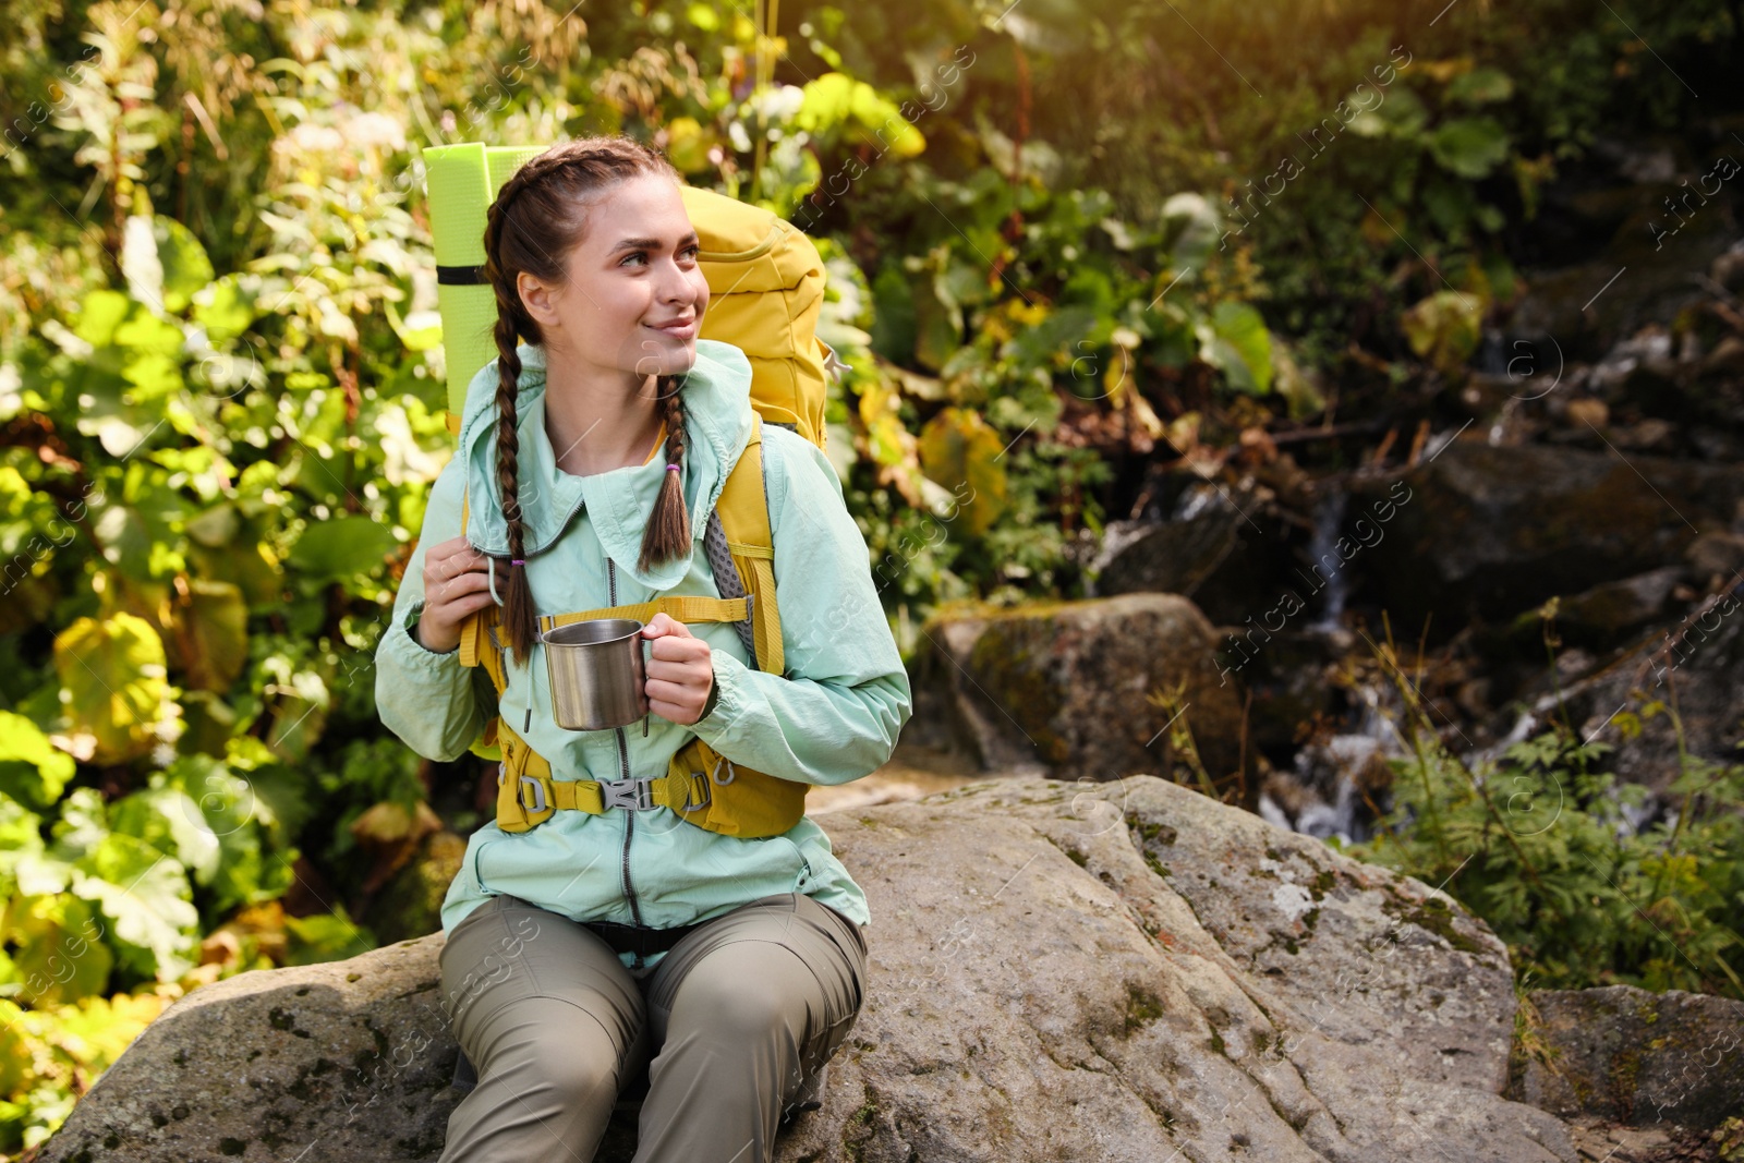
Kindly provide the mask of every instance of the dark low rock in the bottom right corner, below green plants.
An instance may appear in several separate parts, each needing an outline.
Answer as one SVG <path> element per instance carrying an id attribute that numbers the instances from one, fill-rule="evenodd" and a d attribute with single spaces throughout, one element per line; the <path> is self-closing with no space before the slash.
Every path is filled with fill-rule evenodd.
<path id="1" fill-rule="evenodd" d="M 1634 985 L 1528 997 L 1542 1053 L 1516 1062 L 1523 1102 L 1699 1130 L 1744 1114 L 1744 1001 Z"/>

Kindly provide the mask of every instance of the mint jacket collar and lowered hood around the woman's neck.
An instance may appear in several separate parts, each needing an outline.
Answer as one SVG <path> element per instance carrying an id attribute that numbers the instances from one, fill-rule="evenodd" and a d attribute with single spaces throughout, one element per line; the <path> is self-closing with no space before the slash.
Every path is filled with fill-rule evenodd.
<path id="1" fill-rule="evenodd" d="M 570 520 L 588 507 L 593 530 L 619 570 L 651 589 L 670 589 L 689 572 L 685 558 L 637 568 L 642 532 L 666 478 L 664 443 L 649 464 L 610 473 L 572 476 L 556 467 L 544 425 L 546 350 L 542 343 L 516 347 L 521 375 L 516 391 L 518 492 L 528 558 L 551 549 Z M 685 405 L 684 497 L 691 509 L 691 537 L 701 541 L 708 514 L 727 473 L 752 434 L 752 366 L 738 347 L 696 340 L 696 363 L 682 377 Z M 466 539 L 480 553 L 509 556 L 509 525 L 497 490 L 497 359 L 478 370 L 466 389 L 460 441 L 466 457 L 469 518 Z"/>

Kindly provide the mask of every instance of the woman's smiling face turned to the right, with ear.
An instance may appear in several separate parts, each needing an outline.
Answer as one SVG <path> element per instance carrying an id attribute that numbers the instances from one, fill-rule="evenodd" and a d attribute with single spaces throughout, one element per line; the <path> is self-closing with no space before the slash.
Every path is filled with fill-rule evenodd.
<path id="1" fill-rule="evenodd" d="M 696 230 L 670 178 L 628 178 L 588 209 L 569 253 L 569 281 L 520 275 L 521 302 L 560 357 L 637 377 L 678 375 L 696 363 L 708 282 Z"/>

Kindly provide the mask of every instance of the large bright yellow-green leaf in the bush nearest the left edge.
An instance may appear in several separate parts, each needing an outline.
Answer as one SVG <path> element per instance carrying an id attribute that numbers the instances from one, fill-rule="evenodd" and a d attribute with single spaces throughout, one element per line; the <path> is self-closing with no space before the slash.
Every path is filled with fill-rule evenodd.
<path id="1" fill-rule="evenodd" d="M 54 640 L 54 671 L 72 734 L 91 762 L 124 764 L 152 748 L 169 694 L 164 643 L 143 617 L 80 617 Z"/>

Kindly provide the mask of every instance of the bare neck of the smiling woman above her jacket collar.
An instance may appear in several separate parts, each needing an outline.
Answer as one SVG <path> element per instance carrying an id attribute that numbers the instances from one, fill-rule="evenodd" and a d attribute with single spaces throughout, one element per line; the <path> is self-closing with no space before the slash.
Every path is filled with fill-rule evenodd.
<path id="1" fill-rule="evenodd" d="M 647 462 L 659 438 L 657 378 L 548 356 L 546 436 L 556 467 L 593 476 Z"/>

